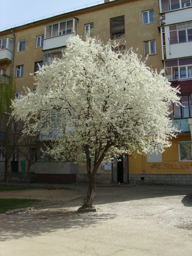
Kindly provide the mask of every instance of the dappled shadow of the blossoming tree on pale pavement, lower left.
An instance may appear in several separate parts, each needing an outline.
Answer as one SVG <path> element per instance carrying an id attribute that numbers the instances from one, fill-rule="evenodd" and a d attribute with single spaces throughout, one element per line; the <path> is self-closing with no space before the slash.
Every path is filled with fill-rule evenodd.
<path id="1" fill-rule="evenodd" d="M 42 236 L 61 229 L 65 231 L 83 229 L 115 217 L 116 214 L 110 213 L 67 211 L 67 208 L 61 205 L 54 206 L 52 209 L 9 215 L 0 218 L 0 241 Z"/>

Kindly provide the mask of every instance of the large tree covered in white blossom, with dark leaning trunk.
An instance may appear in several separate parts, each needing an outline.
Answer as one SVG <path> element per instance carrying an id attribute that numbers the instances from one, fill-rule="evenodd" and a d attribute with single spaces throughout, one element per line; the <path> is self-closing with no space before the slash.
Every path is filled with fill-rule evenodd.
<path id="1" fill-rule="evenodd" d="M 84 207 L 92 207 L 102 162 L 125 153 L 164 151 L 174 136 L 169 106 L 179 104 L 178 90 L 132 50 L 122 54 L 117 48 L 70 37 L 62 60 L 37 72 L 36 94 L 26 89 L 12 102 L 14 117 L 26 124 L 24 132 L 30 122 L 34 134 L 51 141 L 51 156 L 86 164 Z"/>

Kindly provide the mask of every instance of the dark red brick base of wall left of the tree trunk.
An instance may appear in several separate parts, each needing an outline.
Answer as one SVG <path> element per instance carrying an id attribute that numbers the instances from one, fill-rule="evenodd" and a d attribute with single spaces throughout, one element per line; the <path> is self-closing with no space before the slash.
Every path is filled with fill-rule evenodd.
<path id="1" fill-rule="evenodd" d="M 35 173 L 35 183 L 73 184 L 76 183 L 76 174 Z"/>

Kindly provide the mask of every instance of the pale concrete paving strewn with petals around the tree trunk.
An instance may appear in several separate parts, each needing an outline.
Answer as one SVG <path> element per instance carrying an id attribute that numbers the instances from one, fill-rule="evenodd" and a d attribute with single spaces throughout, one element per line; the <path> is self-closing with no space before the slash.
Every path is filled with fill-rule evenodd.
<path id="1" fill-rule="evenodd" d="M 192 186 L 98 187 L 94 203 L 98 212 L 77 213 L 77 199 L 1 217 L 0 255 L 192 255 Z"/>

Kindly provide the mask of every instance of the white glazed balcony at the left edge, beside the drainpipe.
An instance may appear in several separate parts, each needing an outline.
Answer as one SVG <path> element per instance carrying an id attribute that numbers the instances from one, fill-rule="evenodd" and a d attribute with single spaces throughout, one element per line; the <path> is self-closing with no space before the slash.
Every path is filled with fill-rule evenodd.
<path id="1" fill-rule="evenodd" d="M 0 61 L 12 60 L 13 41 L 9 38 L 0 39 Z"/>

